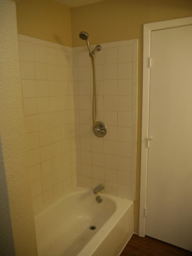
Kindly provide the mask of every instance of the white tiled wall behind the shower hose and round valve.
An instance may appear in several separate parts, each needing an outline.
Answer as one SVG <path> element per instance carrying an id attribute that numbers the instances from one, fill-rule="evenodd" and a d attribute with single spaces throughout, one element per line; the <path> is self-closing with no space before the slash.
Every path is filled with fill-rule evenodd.
<path id="1" fill-rule="evenodd" d="M 93 46 L 94 47 L 94 46 Z M 92 66 L 87 47 L 73 48 L 77 184 L 135 199 L 138 41 L 101 44 L 95 54 L 96 120 L 104 138 L 92 133 Z"/>

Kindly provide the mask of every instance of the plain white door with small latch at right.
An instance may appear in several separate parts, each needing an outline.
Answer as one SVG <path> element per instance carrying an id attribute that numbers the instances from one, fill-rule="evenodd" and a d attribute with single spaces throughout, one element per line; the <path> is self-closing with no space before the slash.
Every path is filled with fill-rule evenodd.
<path id="1" fill-rule="evenodd" d="M 192 25 L 151 32 L 146 235 L 192 251 Z"/>

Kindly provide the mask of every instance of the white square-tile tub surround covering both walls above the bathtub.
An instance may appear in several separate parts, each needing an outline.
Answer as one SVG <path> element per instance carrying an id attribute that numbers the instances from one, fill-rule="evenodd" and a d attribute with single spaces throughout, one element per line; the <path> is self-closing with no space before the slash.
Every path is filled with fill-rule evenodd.
<path id="1" fill-rule="evenodd" d="M 18 37 L 34 212 L 76 184 L 102 183 L 102 192 L 134 200 L 138 41 L 101 44 L 95 54 L 96 120 L 107 125 L 97 138 L 86 46 Z"/>

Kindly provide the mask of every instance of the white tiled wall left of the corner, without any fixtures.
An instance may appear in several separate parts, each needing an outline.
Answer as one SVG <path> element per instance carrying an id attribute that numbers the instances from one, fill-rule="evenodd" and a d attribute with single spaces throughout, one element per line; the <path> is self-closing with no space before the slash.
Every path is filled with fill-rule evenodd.
<path id="1" fill-rule="evenodd" d="M 76 185 L 72 49 L 18 35 L 34 212 Z"/>

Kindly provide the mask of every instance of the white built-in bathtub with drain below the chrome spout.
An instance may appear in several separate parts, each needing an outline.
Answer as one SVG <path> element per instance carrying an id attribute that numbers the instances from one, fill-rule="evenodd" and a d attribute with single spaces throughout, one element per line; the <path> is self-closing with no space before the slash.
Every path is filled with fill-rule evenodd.
<path id="1" fill-rule="evenodd" d="M 35 214 L 38 256 L 117 256 L 133 234 L 133 201 L 77 187 Z M 90 230 L 90 226 L 95 230 Z"/>

